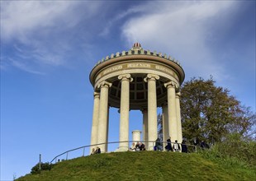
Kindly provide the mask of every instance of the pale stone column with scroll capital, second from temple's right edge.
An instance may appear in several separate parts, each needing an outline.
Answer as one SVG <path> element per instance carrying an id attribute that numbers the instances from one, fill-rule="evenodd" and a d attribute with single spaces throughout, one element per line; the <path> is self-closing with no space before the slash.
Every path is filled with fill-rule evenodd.
<path id="1" fill-rule="evenodd" d="M 175 100 L 175 88 L 176 83 L 174 81 L 169 81 L 165 83 L 164 86 L 167 88 L 168 96 L 168 130 L 169 136 L 172 142 L 178 140 L 177 131 L 177 116 L 176 116 L 176 100 Z"/>

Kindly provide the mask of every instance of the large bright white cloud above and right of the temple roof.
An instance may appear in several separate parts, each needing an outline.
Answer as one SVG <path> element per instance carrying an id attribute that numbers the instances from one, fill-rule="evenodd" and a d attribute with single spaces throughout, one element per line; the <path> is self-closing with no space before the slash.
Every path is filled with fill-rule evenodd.
<path id="1" fill-rule="evenodd" d="M 221 21 L 234 2 L 150 2 L 144 16 L 133 17 L 122 27 L 122 35 L 133 44 L 171 53 L 180 59 L 188 78 L 226 77 L 216 55 L 211 53 L 211 27 Z"/>

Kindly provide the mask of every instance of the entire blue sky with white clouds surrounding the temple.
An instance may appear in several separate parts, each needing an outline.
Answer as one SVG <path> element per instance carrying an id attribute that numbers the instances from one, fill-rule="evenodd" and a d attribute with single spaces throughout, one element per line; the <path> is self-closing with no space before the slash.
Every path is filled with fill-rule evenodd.
<path id="1" fill-rule="evenodd" d="M 170 54 L 255 112 L 255 1 L 1 1 L 1 180 L 90 144 L 98 60 L 128 50 Z M 110 110 L 109 141 L 119 114 Z M 142 129 L 130 112 L 130 132 Z M 131 135 L 130 135 L 131 140 Z M 81 153 L 82 154 L 82 153 Z"/>

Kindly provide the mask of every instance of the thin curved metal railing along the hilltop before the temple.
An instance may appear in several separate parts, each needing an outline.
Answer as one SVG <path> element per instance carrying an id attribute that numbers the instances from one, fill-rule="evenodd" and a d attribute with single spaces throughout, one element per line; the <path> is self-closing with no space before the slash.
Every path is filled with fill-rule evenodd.
<path id="1" fill-rule="evenodd" d="M 141 141 L 125 141 L 125 142 L 129 142 L 129 143 L 133 143 L 133 142 L 141 142 Z M 144 141 L 143 143 L 145 143 L 146 141 Z M 86 148 L 90 148 L 90 147 L 93 147 L 93 146 L 100 146 L 100 145 L 111 145 L 111 144 L 117 144 L 117 143 L 121 143 L 121 142 L 103 142 L 103 143 L 99 143 L 99 144 L 94 144 L 94 145 L 88 145 L 88 146 L 80 146 L 78 148 L 74 148 L 74 149 L 71 149 L 69 151 L 64 151 L 63 153 L 59 154 L 59 155 L 56 155 L 55 158 L 53 158 L 50 163 L 52 164 L 53 161 L 55 160 L 55 163 L 57 162 L 57 159 L 60 157 L 60 156 L 63 156 L 63 155 L 66 155 L 65 156 L 65 160 L 69 160 L 69 153 L 70 152 L 73 152 L 73 151 L 78 151 L 78 150 L 81 150 L 83 149 L 83 154 L 82 156 L 85 155 L 85 149 Z M 155 145 L 155 141 L 148 141 L 147 142 L 148 144 L 149 143 L 152 143 L 151 146 L 154 146 Z M 163 146 L 163 151 L 164 151 L 164 145 L 167 145 L 168 142 L 160 142 L 160 144 Z M 171 142 L 172 144 L 175 143 L 175 142 Z M 182 143 L 178 143 L 180 146 L 182 145 Z M 149 146 L 149 145 L 148 145 Z M 190 145 L 190 144 L 186 144 L 187 146 L 187 151 L 188 152 L 197 152 L 197 149 L 199 146 L 194 146 L 194 145 Z M 118 148 L 118 146 L 116 147 L 116 149 Z M 112 151 L 110 151 L 112 152 Z M 90 155 L 90 153 L 88 154 Z M 59 159 L 58 159 L 59 160 Z M 64 160 L 64 159 L 63 159 Z"/>

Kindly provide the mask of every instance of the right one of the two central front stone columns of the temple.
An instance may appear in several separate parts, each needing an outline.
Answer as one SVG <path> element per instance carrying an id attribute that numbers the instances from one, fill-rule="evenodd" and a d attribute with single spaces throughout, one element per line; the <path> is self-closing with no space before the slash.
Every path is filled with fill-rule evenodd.
<path id="1" fill-rule="evenodd" d="M 145 77 L 145 81 L 148 82 L 148 132 L 149 132 L 148 150 L 149 151 L 154 150 L 154 142 L 158 137 L 156 80 L 159 80 L 159 76 L 157 75 L 148 74 L 147 77 Z"/>

